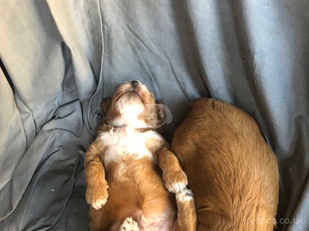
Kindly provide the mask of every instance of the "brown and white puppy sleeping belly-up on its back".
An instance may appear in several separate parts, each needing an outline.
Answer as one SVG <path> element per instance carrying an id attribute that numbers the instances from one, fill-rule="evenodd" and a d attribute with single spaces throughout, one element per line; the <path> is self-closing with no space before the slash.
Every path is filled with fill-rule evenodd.
<path id="1" fill-rule="evenodd" d="M 145 85 L 131 81 L 101 107 L 105 121 L 84 166 L 90 230 L 194 230 L 195 207 L 186 175 L 157 132 L 165 119 L 162 105 Z M 176 193 L 176 204 L 167 189 Z"/>

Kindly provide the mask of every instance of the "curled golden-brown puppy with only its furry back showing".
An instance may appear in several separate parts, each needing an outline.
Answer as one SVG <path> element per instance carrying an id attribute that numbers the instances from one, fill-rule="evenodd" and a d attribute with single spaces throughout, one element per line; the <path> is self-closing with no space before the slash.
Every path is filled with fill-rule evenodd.
<path id="1" fill-rule="evenodd" d="M 200 98 L 171 146 L 194 193 L 198 231 L 271 231 L 278 165 L 255 121 L 242 110 Z"/>

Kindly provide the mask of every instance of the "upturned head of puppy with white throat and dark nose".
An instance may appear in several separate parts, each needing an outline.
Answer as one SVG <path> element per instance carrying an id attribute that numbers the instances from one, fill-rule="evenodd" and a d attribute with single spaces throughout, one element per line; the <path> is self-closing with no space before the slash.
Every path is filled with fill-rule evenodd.
<path id="1" fill-rule="evenodd" d="M 118 87 L 111 99 L 102 101 L 101 108 L 106 122 L 115 127 L 158 127 L 166 117 L 162 104 L 155 102 L 154 94 L 136 80 Z"/>

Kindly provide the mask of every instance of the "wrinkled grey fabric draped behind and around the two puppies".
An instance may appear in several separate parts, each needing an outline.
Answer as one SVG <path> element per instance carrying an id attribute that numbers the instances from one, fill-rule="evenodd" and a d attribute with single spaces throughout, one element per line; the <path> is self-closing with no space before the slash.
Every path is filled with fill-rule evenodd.
<path id="1" fill-rule="evenodd" d="M 85 150 L 132 79 L 171 110 L 167 137 L 199 96 L 252 115 L 278 158 L 278 230 L 308 230 L 308 38 L 308 0 L 2 0 L 0 230 L 88 229 Z"/>

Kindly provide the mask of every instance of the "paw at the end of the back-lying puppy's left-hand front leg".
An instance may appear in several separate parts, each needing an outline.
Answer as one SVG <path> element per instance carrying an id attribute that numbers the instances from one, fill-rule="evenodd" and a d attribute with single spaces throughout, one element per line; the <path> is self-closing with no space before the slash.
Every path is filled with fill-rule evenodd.
<path id="1" fill-rule="evenodd" d="M 89 203 L 95 209 L 101 208 L 107 202 L 108 198 L 107 189 L 108 189 L 107 185 L 87 187 L 86 190 L 87 203 Z"/>

